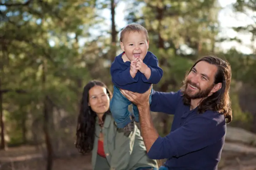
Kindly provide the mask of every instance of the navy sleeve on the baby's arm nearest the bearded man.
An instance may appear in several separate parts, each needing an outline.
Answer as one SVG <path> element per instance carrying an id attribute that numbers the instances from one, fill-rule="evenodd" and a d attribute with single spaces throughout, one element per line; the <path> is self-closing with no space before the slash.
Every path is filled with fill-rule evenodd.
<path id="1" fill-rule="evenodd" d="M 163 76 L 163 70 L 158 66 L 158 60 L 156 56 L 151 56 L 150 62 L 148 63 L 148 67 L 151 70 L 151 75 L 149 79 L 147 79 L 146 76 L 142 76 L 142 81 L 150 84 L 159 83 Z"/>

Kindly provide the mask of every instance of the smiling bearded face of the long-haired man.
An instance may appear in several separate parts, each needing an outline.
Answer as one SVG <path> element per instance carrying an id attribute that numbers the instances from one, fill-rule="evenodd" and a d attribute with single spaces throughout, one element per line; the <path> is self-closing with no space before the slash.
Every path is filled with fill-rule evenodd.
<path id="1" fill-rule="evenodd" d="M 205 61 L 198 62 L 187 76 L 184 95 L 189 99 L 201 99 L 210 95 L 215 86 L 218 68 Z"/>

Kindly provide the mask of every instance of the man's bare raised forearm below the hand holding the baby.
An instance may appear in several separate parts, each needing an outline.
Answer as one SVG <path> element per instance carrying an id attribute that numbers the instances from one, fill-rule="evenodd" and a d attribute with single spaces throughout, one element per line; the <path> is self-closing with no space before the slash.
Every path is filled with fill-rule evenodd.
<path id="1" fill-rule="evenodd" d="M 149 105 L 138 107 L 138 110 L 139 122 L 141 124 L 141 134 L 148 152 L 154 142 L 157 140 L 159 134 L 157 133 L 156 128 L 154 128 Z"/>

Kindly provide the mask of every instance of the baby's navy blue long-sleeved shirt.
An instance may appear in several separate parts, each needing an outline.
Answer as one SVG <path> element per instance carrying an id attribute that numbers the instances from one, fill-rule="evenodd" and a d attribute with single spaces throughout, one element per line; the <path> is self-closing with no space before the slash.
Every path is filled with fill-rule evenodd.
<path id="1" fill-rule="evenodd" d="M 112 82 L 115 86 L 138 93 L 146 92 L 151 84 L 157 84 L 162 76 L 163 70 L 158 66 L 157 57 L 147 52 L 143 63 L 145 63 L 151 70 L 151 76 L 149 79 L 140 71 L 137 72 L 134 78 L 130 74 L 131 62 L 123 62 L 122 54 L 115 57 L 114 62 L 110 67 L 110 74 L 112 76 Z"/>

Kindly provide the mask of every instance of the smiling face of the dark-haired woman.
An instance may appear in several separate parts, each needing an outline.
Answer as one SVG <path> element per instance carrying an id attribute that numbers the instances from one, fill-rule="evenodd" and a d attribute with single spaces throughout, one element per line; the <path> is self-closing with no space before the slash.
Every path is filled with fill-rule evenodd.
<path id="1" fill-rule="evenodd" d="M 109 102 L 109 96 L 105 87 L 96 85 L 89 90 L 88 104 L 97 115 L 108 111 Z"/>

